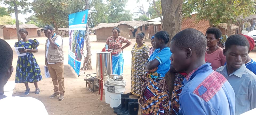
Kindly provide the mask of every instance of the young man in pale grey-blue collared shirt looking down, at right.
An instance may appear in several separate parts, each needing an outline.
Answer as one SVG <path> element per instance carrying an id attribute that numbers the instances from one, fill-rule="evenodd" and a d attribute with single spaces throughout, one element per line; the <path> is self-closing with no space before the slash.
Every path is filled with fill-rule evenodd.
<path id="1" fill-rule="evenodd" d="M 256 75 L 245 66 L 249 42 L 243 35 L 231 35 L 223 54 L 227 64 L 216 71 L 229 81 L 235 92 L 235 114 L 239 115 L 256 108 Z"/>

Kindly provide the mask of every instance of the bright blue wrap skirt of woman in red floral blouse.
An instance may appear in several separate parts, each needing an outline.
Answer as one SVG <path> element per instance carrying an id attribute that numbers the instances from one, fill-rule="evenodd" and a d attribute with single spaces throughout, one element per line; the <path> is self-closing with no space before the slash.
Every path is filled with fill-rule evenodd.
<path id="1" fill-rule="evenodd" d="M 112 74 L 123 74 L 123 52 L 112 55 Z"/>

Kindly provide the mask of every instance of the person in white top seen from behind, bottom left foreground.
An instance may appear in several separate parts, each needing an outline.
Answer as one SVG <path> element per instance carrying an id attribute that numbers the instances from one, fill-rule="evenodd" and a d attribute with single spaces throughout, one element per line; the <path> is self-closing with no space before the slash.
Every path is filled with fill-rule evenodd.
<path id="1" fill-rule="evenodd" d="M 43 103 L 32 97 L 5 96 L 3 87 L 13 73 L 13 50 L 0 39 L 0 114 L 1 115 L 48 115 Z"/>

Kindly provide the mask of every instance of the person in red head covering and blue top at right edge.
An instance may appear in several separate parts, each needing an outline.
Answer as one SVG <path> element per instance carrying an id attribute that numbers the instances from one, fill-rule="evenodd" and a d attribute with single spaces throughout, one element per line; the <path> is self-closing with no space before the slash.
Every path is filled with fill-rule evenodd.
<path id="1" fill-rule="evenodd" d="M 250 36 L 247 36 L 247 35 L 243 35 L 243 36 L 245 36 L 249 42 L 249 45 L 250 45 L 249 52 L 248 52 L 249 54 L 250 51 L 254 49 L 254 40 Z M 253 59 L 251 59 L 249 55 L 247 56 L 247 60 L 245 61 L 245 66 L 247 69 L 251 70 L 254 74 L 256 74 L 256 62 Z"/>

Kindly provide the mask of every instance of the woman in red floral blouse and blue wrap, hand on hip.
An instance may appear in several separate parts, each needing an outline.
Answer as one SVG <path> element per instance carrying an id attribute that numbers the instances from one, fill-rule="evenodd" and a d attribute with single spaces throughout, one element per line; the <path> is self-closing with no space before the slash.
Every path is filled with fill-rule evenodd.
<path id="1" fill-rule="evenodd" d="M 123 49 L 131 45 L 131 41 L 122 36 L 119 36 L 120 30 L 114 27 L 112 30 L 113 36 L 107 38 L 106 44 L 112 50 L 112 72 L 113 74 L 123 74 Z M 122 44 L 126 43 L 122 47 Z"/>

